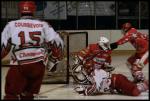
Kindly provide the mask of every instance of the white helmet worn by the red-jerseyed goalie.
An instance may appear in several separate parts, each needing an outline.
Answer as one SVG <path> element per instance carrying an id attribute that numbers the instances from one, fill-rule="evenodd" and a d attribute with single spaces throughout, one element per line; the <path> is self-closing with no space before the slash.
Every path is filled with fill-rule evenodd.
<path id="1" fill-rule="evenodd" d="M 101 48 L 103 48 L 103 50 L 110 49 L 109 40 L 106 37 L 100 37 L 98 44 L 100 45 Z"/>

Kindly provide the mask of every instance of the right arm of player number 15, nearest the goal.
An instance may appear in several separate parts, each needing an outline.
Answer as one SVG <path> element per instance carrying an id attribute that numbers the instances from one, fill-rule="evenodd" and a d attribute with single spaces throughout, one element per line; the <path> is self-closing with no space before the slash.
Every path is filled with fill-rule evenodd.
<path id="1" fill-rule="evenodd" d="M 44 24 L 44 32 L 46 48 L 48 50 L 47 67 L 49 68 L 49 71 L 51 71 L 63 57 L 64 44 L 59 34 L 46 22 Z"/>

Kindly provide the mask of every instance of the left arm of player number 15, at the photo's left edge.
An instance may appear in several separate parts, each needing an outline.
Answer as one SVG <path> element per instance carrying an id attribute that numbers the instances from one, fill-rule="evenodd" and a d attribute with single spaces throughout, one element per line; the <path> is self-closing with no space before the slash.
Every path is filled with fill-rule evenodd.
<path id="1" fill-rule="evenodd" d="M 1 33 L 1 59 L 3 59 L 11 50 L 11 38 L 9 33 L 9 24 L 7 24 Z"/>

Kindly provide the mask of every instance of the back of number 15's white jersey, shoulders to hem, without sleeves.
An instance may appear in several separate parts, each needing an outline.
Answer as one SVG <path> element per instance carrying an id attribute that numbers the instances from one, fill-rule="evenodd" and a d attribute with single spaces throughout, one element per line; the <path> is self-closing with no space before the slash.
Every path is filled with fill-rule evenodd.
<path id="1" fill-rule="evenodd" d="M 19 19 L 9 22 L 8 35 L 13 46 L 11 64 L 28 64 L 43 60 L 46 50 L 45 22 L 34 19 Z"/>

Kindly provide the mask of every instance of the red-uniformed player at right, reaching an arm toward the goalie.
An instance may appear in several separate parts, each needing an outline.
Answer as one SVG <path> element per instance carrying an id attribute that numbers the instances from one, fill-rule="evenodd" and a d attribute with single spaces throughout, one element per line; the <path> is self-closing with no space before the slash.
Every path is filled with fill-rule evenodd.
<path id="1" fill-rule="evenodd" d="M 126 64 L 130 68 L 135 82 L 148 82 L 142 73 L 142 69 L 148 63 L 148 35 L 138 32 L 130 23 L 123 24 L 122 31 L 124 36 L 118 41 L 111 43 L 111 49 L 130 42 L 136 49 L 136 52 L 128 58 Z"/>

